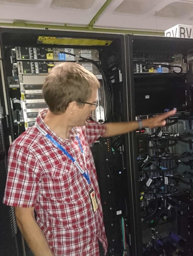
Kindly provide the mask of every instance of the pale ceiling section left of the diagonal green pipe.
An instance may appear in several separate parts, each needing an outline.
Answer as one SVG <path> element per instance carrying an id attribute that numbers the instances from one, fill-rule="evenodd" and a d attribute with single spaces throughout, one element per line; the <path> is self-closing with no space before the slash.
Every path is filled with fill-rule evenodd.
<path id="1" fill-rule="evenodd" d="M 87 26 L 105 2 L 106 0 L 0 0 L 0 22 Z"/>

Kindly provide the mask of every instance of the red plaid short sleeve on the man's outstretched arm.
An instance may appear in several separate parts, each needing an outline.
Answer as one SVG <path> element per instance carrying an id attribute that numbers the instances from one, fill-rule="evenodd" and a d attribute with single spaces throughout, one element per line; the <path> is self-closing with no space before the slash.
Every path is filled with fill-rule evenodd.
<path id="1" fill-rule="evenodd" d="M 86 134 L 89 145 L 95 142 L 105 133 L 105 125 L 98 124 L 97 122 L 88 121 L 86 123 Z"/>

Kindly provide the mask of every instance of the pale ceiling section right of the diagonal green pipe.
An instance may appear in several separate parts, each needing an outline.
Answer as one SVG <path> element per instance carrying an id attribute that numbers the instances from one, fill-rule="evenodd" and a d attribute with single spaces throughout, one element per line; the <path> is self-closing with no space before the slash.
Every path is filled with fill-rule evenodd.
<path id="1" fill-rule="evenodd" d="M 176 2 L 177 5 L 180 3 L 182 6 L 181 12 L 183 14 L 180 18 L 174 18 L 173 10 Z M 186 6 L 192 6 L 192 4 L 193 0 L 116 0 L 112 1 L 105 12 L 102 13 L 94 27 L 163 32 L 177 24 L 192 26 L 193 23 L 189 19 L 193 17 L 192 7 L 191 9 L 186 8 Z M 164 17 L 158 16 L 160 10 L 168 8 L 168 5 L 173 6 L 173 8 L 167 12 L 167 15 L 165 14 Z M 178 8 L 176 7 L 176 9 Z M 184 12 L 186 12 L 185 15 Z"/>

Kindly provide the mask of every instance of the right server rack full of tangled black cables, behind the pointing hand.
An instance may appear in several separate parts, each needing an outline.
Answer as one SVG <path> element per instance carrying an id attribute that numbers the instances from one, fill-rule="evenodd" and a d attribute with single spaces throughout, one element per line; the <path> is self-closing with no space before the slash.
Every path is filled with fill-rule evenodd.
<path id="1" fill-rule="evenodd" d="M 125 118 L 150 118 L 177 108 L 163 129 L 143 128 L 126 136 L 128 196 L 133 206 L 128 215 L 130 254 L 193 255 L 193 40 L 126 35 L 125 42 Z"/>

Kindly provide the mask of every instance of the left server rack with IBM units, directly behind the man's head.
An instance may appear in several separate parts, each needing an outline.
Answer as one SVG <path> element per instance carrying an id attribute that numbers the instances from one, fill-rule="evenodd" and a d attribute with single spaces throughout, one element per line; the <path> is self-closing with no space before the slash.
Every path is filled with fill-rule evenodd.
<path id="1" fill-rule="evenodd" d="M 53 44 L 53 38 L 57 40 L 57 43 Z M 89 40 L 95 40 L 95 42 L 93 43 L 91 41 L 90 44 Z M 82 41 L 84 42 L 80 43 Z M 2 87 L 4 100 L 7 102 L 8 109 L 6 115 L 4 112 L 2 117 L 3 120 L 5 118 L 7 119 L 7 122 L 4 123 L 5 132 L 3 134 L 3 141 L 7 149 L 12 140 L 34 125 L 38 110 L 46 107 L 41 97 L 41 86 L 43 84 L 43 77 L 49 69 L 57 65 L 59 61 L 78 61 L 80 59 L 77 57 L 72 59 L 71 57 L 73 55 L 70 55 L 70 53 L 82 54 L 82 57 L 87 57 L 88 59 L 93 58 L 93 56 L 96 57 L 95 61 L 98 61 L 98 64 L 105 73 L 103 79 L 100 71 L 98 72 L 98 68 L 92 66 L 88 61 L 85 62 L 84 60 L 84 62 L 80 62 L 81 65 L 85 65 L 88 70 L 92 69 L 92 72 L 98 75 L 97 78 L 100 80 L 101 88 L 103 89 L 103 91 L 98 92 L 101 109 L 92 113 L 92 118 L 98 122 L 113 121 L 113 100 L 109 100 L 113 97 L 116 98 L 113 96 L 113 90 L 115 90 L 113 86 L 118 90 L 118 95 L 126 95 L 123 91 L 126 88 L 123 35 L 1 28 L 0 42 L 3 64 L 1 69 L 4 76 Z M 71 52 L 69 51 L 69 54 L 65 54 L 64 52 L 69 49 L 71 49 Z M 100 55 L 99 60 L 97 56 L 93 55 L 96 51 Z M 90 56 L 91 54 L 92 56 Z M 105 82 L 109 83 L 109 89 L 105 87 Z M 21 102 L 21 107 L 17 108 L 13 106 L 12 94 L 16 97 L 15 103 Z M 121 97 L 119 96 L 118 99 L 120 105 Z M 125 104 L 126 100 L 121 100 Z M 123 105 L 121 108 L 124 108 Z M 120 114 L 120 110 L 118 112 Z M 122 121 L 124 121 L 123 117 Z M 120 255 L 123 252 L 120 220 L 122 216 L 126 216 L 126 194 L 123 193 L 124 199 L 119 200 L 121 195 L 120 193 L 116 194 L 114 188 L 119 190 L 120 185 L 123 187 L 122 183 L 125 182 L 126 167 L 124 167 L 125 169 L 123 168 L 122 160 L 120 166 L 116 161 L 120 156 L 122 159 L 122 145 L 119 137 L 114 138 L 113 143 L 115 149 L 112 149 L 111 138 L 105 141 L 100 139 L 94 143 L 92 151 L 95 156 L 95 162 L 100 163 L 97 165 L 97 172 L 100 193 L 102 195 L 103 214 L 106 220 L 105 229 L 107 230 L 106 234 L 109 244 L 108 255 Z M 101 154 L 100 151 L 104 152 L 104 154 Z M 109 162 L 106 160 L 107 158 Z M 114 163 L 116 162 L 115 168 L 113 161 Z M 102 171 L 104 172 L 102 173 Z M 119 174 L 119 172 L 121 173 Z M 5 178 L 5 170 L 3 175 Z M 117 175 L 119 177 L 118 185 L 117 182 L 115 183 Z M 104 186 L 104 179 L 109 181 L 109 183 L 107 182 L 108 186 Z M 9 254 L 10 252 L 7 253 L 7 255 Z"/>

